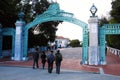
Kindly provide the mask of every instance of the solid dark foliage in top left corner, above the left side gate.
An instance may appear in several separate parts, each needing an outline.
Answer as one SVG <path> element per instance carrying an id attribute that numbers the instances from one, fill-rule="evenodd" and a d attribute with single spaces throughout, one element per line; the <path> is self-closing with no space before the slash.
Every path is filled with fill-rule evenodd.
<path id="1" fill-rule="evenodd" d="M 0 0 L 0 23 L 3 27 L 15 27 L 20 0 Z"/>

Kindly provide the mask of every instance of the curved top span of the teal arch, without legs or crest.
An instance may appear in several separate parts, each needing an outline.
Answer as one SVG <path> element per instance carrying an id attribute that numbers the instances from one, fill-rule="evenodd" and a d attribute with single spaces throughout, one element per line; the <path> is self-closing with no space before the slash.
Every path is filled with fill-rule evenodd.
<path id="1" fill-rule="evenodd" d="M 40 18 L 37 19 L 31 23 L 29 23 L 28 25 L 26 25 L 25 30 L 30 29 L 33 26 L 36 26 L 37 24 L 40 23 L 44 23 L 44 22 L 48 22 L 48 21 L 67 21 L 73 24 L 76 24 L 78 26 L 81 26 L 83 29 L 87 28 L 87 24 L 85 22 L 82 22 L 76 18 L 72 18 L 72 17 L 67 17 L 67 16 L 48 16 L 48 17 L 44 17 L 44 18 Z"/>

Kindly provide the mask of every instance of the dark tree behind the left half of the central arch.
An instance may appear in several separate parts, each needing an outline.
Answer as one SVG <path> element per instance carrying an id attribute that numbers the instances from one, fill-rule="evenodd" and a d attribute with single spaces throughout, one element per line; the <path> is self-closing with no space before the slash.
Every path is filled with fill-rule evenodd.
<path id="1" fill-rule="evenodd" d="M 50 3 L 47 0 L 22 0 L 19 4 L 19 7 L 22 7 L 22 11 L 24 11 L 27 15 L 25 17 L 26 22 L 30 22 L 38 14 L 42 14 L 44 11 L 46 11 L 49 5 Z M 29 30 L 29 47 L 33 47 L 34 45 L 45 46 L 45 44 L 47 45 L 48 41 L 54 42 L 57 30 L 56 27 L 59 23 L 60 21 L 49 21 L 31 28 Z M 33 32 L 35 29 L 44 33 L 34 35 Z"/>

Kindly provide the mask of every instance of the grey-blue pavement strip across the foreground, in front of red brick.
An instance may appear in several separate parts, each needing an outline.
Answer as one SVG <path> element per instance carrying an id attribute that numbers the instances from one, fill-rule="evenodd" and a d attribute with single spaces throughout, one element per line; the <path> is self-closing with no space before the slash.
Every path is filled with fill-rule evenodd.
<path id="1" fill-rule="evenodd" d="M 0 80 L 120 80 L 120 76 L 64 69 L 61 74 L 56 74 L 55 69 L 50 74 L 47 69 L 0 66 Z"/>

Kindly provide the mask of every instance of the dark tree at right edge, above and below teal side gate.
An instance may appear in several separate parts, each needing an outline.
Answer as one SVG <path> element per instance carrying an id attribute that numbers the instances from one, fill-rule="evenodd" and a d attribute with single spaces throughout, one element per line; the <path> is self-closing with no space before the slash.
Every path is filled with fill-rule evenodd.
<path id="1" fill-rule="evenodd" d="M 110 23 L 120 23 L 120 0 L 114 0 L 112 3 L 112 10 L 110 12 L 112 18 Z M 120 35 L 109 35 L 108 36 L 109 45 L 120 49 Z"/>

